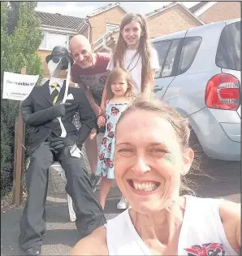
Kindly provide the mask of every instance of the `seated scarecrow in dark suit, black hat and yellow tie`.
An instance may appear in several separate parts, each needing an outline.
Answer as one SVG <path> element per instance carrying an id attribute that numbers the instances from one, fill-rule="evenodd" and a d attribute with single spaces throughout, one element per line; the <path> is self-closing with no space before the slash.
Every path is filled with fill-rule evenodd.
<path id="1" fill-rule="evenodd" d="M 20 220 L 19 245 L 27 255 L 40 255 L 45 233 L 45 201 L 49 168 L 59 161 L 67 178 L 67 193 L 76 211 L 76 227 L 80 237 L 88 236 L 106 223 L 97 203 L 80 151 L 84 140 L 93 129 L 93 111 L 80 88 L 69 87 L 73 60 L 67 48 L 54 47 L 46 57 L 50 80 L 35 86 L 24 100 L 21 111 L 24 121 L 32 126 L 28 155 L 30 163 L 26 174 L 28 199 Z M 67 79 L 58 74 L 67 70 Z M 72 123 L 80 114 L 80 130 Z"/>

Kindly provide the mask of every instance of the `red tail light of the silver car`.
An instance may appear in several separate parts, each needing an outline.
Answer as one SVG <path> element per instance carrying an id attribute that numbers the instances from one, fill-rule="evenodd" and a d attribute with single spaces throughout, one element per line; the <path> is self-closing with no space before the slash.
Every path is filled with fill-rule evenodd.
<path id="1" fill-rule="evenodd" d="M 237 110 L 240 107 L 240 81 L 227 73 L 215 75 L 207 83 L 205 104 L 208 108 Z"/>

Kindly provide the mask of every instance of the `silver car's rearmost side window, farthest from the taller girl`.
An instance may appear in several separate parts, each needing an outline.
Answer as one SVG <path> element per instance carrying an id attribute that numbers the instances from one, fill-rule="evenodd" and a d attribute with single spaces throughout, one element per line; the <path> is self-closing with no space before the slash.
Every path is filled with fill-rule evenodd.
<path id="1" fill-rule="evenodd" d="M 184 38 L 184 45 L 179 57 L 177 75 L 185 73 L 191 67 L 199 46 L 201 45 L 201 37 Z"/>

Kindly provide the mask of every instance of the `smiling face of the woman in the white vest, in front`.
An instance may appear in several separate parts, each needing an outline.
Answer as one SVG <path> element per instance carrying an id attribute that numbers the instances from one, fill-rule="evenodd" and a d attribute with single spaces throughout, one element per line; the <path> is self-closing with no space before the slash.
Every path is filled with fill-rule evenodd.
<path id="1" fill-rule="evenodd" d="M 179 195 L 180 174 L 192 163 L 192 150 L 181 153 L 169 121 L 137 110 L 119 122 L 115 144 L 115 179 L 132 208 L 149 214 Z"/>

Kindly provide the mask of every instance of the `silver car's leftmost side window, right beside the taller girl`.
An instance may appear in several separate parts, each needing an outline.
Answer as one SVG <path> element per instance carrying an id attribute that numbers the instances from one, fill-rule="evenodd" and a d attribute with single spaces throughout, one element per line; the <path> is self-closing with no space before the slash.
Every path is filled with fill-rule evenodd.
<path id="1" fill-rule="evenodd" d="M 161 77 L 163 65 L 165 63 L 166 56 L 167 56 L 169 48 L 171 46 L 171 40 L 155 42 L 155 43 L 153 43 L 153 46 L 158 53 L 158 59 L 159 59 L 160 68 L 155 73 L 155 78 L 158 78 L 158 77 Z"/>

